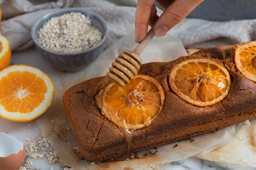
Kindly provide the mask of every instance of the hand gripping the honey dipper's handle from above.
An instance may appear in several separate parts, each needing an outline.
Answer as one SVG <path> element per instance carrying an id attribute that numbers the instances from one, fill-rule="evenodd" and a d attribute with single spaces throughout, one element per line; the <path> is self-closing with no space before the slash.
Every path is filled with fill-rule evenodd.
<path id="1" fill-rule="evenodd" d="M 166 35 L 175 25 L 189 15 L 204 0 L 157 0 L 166 10 L 159 17 L 155 0 L 138 0 L 135 17 L 135 42 L 141 42 L 147 34 L 148 25 L 154 25 L 157 37 Z"/>

